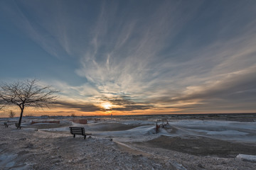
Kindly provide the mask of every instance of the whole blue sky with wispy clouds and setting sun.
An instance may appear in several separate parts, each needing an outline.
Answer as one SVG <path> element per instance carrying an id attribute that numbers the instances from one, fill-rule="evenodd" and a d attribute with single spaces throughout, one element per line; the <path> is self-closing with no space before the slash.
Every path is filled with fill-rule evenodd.
<path id="1" fill-rule="evenodd" d="M 0 81 L 59 90 L 36 115 L 255 113 L 255 16 L 254 0 L 3 0 Z"/>

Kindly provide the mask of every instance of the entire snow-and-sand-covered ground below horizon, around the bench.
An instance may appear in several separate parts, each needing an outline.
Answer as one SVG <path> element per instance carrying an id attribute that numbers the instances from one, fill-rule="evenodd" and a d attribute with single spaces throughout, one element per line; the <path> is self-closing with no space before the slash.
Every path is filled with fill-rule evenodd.
<path id="1" fill-rule="evenodd" d="M 255 169 L 256 122 L 156 119 L 1 118 L 0 169 Z M 60 123 L 35 123 L 60 120 Z M 164 122 L 166 123 L 166 121 Z M 161 121 L 158 122 L 158 125 Z M 87 140 L 69 127 L 84 127 Z"/>

